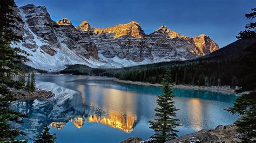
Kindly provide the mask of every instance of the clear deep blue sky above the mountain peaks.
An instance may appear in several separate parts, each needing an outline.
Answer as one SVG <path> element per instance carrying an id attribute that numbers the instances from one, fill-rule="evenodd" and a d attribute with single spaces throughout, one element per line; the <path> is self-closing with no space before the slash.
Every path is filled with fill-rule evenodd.
<path id="1" fill-rule="evenodd" d="M 77 26 L 87 20 L 105 28 L 136 20 L 149 34 L 165 25 L 190 37 L 207 34 L 220 47 L 237 40 L 249 21 L 245 13 L 256 0 L 15 0 L 18 6 L 46 6 L 53 20 L 68 18 Z"/>

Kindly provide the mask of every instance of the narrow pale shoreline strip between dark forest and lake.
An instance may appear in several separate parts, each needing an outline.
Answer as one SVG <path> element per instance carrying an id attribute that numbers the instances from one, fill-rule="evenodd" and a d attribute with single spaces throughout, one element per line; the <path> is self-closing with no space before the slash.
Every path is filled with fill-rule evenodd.
<path id="1" fill-rule="evenodd" d="M 159 83 L 144 83 L 144 82 L 133 82 L 133 81 L 124 81 L 124 80 L 119 80 L 117 78 L 114 78 L 114 82 L 119 82 L 119 83 L 129 83 L 129 84 L 137 84 L 137 85 L 146 85 L 146 86 L 155 86 L 155 87 L 162 87 L 162 84 Z M 199 86 L 192 86 L 192 85 L 174 85 L 174 88 L 179 88 L 179 89 L 192 89 L 192 90 L 204 90 L 204 91 L 212 91 L 212 92 L 220 92 L 224 94 L 235 94 L 235 90 L 230 88 L 230 87 L 199 87 Z M 235 94 L 237 95 L 237 94 Z"/>

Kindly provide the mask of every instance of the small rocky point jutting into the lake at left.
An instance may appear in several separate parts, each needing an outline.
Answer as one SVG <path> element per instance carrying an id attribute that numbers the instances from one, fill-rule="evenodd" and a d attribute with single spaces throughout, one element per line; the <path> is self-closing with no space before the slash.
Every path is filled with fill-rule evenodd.
<path id="1" fill-rule="evenodd" d="M 12 92 L 14 92 L 15 97 L 19 100 L 19 101 L 23 101 L 23 100 L 31 100 L 31 99 L 37 99 L 37 98 L 48 98 L 52 96 L 52 92 L 51 91 L 45 91 L 45 90 L 41 90 L 41 89 L 36 89 L 35 91 L 28 91 L 28 90 L 24 90 L 24 89 L 11 89 Z"/>

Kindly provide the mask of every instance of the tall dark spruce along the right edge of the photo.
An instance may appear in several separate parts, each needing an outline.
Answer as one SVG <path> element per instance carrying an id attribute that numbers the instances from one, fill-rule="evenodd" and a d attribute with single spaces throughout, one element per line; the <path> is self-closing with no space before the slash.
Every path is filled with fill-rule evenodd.
<path id="1" fill-rule="evenodd" d="M 255 18 L 256 9 L 252 9 L 252 13 L 248 13 L 245 16 L 249 19 Z M 239 33 L 238 38 L 256 39 L 256 23 L 247 24 L 246 28 L 247 30 Z M 250 141 L 250 139 L 256 137 L 256 43 L 247 47 L 245 51 L 247 51 L 248 54 L 244 55 L 241 59 L 241 64 L 244 65 L 244 69 L 240 74 L 242 80 L 239 81 L 242 88 L 237 90 L 237 92 L 249 91 L 249 93 L 240 96 L 227 111 L 232 114 L 238 113 L 242 115 L 234 124 L 238 126 L 238 132 L 245 134 L 244 140 Z"/>

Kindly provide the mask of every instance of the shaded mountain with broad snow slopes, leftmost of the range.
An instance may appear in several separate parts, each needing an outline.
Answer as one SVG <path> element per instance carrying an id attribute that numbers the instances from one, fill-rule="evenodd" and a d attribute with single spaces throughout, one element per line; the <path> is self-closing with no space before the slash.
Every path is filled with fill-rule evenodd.
<path id="1" fill-rule="evenodd" d="M 18 8 L 17 15 L 24 22 L 18 33 L 25 40 L 18 46 L 31 55 L 26 65 L 48 71 L 73 64 L 94 66 L 89 61 L 98 59 L 95 43 L 89 34 L 77 30 L 67 18 L 53 22 L 44 6 L 33 4 Z"/>

